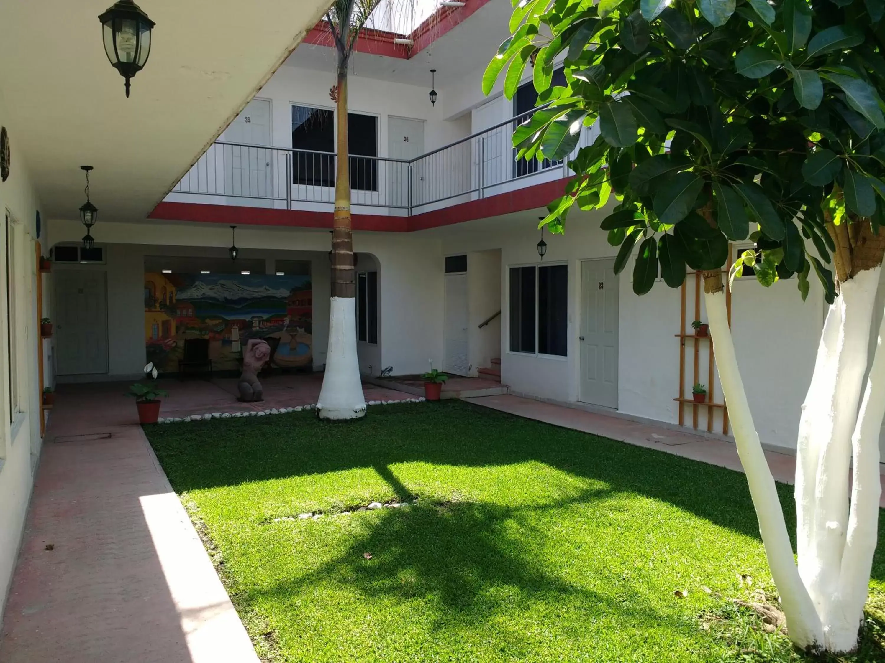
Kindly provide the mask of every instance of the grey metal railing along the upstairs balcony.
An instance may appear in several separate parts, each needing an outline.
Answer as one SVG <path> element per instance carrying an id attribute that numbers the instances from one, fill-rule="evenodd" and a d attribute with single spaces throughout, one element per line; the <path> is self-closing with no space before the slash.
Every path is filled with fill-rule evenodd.
<path id="1" fill-rule="evenodd" d="M 350 155 L 350 203 L 404 210 L 411 215 L 503 193 L 529 183 L 519 180 L 545 172 L 556 176 L 556 169 L 559 177 L 566 177 L 568 159 L 516 160 L 512 134 L 537 110 L 412 160 Z M 582 126 L 573 155 L 596 140 L 597 131 L 596 126 Z M 292 209 L 295 202 L 332 203 L 336 162 L 333 152 L 216 141 L 172 193 L 224 196 L 228 204 L 253 207 Z"/>

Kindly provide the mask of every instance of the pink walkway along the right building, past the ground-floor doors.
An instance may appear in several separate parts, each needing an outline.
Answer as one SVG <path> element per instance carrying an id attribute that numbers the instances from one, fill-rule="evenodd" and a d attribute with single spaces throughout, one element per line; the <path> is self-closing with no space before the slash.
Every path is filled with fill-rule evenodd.
<path id="1" fill-rule="evenodd" d="M 605 438 L 617 439 L 631 445 L 645 446 L 666 453 L 702 461 L 722 468 L 735 469 L 743 472 L 741 460 L 737 455 L 737 447 L 732 442 L 719 439 L 704 438 L 690 431 L 673 430 L 637 423 L 620 416 L 602 415 L 576 408 L 566 408 L 541 400 L 519 398 L 509 394 L 502 396 L 483 396 L 465 399 L 467 402 L 507 412 L 511 415 L 524 416 L 535 421 L 552 423 L 555 426 L 570 428 L 574 431 L 594 433 Z M 775 480 L 784 484 L 793 484 L 796 480 L 796 456 L 789 453 L 766 451 L 768 467 L 771 468 Z M 885 466 L 880 465 L 885 473 Z M 885 507 L 885 476 L 880 507 Z"/>

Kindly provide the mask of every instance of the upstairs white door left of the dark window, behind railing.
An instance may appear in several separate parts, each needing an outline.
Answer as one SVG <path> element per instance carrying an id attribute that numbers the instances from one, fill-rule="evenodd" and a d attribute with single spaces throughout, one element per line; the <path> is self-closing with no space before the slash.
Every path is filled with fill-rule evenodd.
<path id="1" fill-rule="evenodd" d="M 271 103 L 253 99 L 224 133 L 225 193 L 264 198 L 273 196 L 273 150 L 250 145 L 271 144 Z M 242 147 L 245 145 L 247 147 Z"/>

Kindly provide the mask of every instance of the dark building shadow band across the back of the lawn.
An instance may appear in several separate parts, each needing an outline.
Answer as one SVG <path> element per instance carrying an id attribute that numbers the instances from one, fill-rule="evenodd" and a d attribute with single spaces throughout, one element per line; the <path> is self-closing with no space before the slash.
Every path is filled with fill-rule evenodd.
<path id="1" fill-rule="evenodd" d="M 147 433 L 177 492 L 373 468 L 405 499 L 411 491 L 390 465 L 423 461 L 481 467 L 538 461 L 759 537 L 746 478 L 739 472 L 459 400 L 372 408 L 365 421 L 349 426 L 300 413 L 156 426 Z M 792 486 L 778 485 L 791 533 L 796 530 L 792 491 Z M 885 531 L 882 513 L 880 532 Z M 877 580 L 885 580 L 881 547 L 873 560 Z"/>

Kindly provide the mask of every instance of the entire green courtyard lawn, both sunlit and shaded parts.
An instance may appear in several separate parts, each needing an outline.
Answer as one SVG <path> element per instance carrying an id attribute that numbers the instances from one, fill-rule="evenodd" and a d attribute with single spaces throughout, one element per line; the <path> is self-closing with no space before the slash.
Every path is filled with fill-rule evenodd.
<path id="1" fill-rule="evenodd" d="M 455 400 L 147 433 L 268 660 L 804 660 L 727 602 L 771 583 L 730 470 Z"/>

